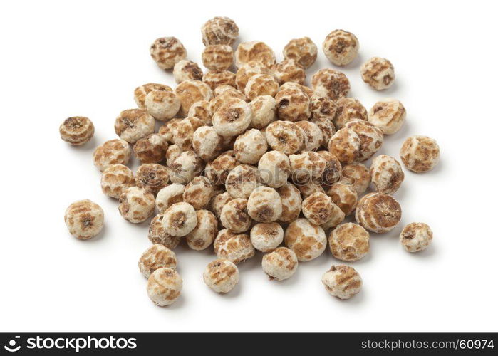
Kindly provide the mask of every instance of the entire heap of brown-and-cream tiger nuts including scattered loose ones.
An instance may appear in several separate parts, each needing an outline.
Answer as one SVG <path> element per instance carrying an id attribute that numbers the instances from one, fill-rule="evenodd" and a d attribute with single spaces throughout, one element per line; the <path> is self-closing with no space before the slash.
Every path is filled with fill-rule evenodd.
<path id="1" fill-rule="evenodd" d="M 123 218 L 138 224 L 154 216 L 152 246 L 139 267 L 157 305 L 180 295 L 172 250 L 182 241 L 193 250 L 214 249 L 217 259 L 206 267 L 204 281 L 228 293 L 239 281 L 237 264 L 256 250 L 264 253 L 264 273 L 284 281 L 327 245 L 339 261 L 360 260 L 370 250 L 370 233 L 388 232 L 401 219 L 392 194 L 403 183 L 402 166 L 395 157 L 374 155 L 385 135 L 405 122 L 403 104 L 386 98 L 366 110 L 347 96 L 346 75 L 332 68 L 313 73 L 311 88 L 305 86 L 306 69 L 318 52 L 308 37 L 289 41 L 284 60 L 276 63 L 274 51 L 261 41 L 242 42 L 234 51 L 238 33 L 226 17 L 204 23 L 205 72 L 187 59 L 177 38 L 154 41 L 150 54 L 160 68 L 172 69 L 176 88 L 136 88 L 138 108 L 118 115 L 118 138 L 93 154 L 102 191 L 119 199 Z M 358 38 L 343 30 L 323 42 L 335 66 L 351 63 L 358 49 Z M 395 80 L 393 64 L 379 57 L 363 63 L 360 75 L 375 90 Z M 156 121 L 164 122 L 158 132 Z M 86 117 L 71 117 L 60 128 L 72 145 L 90 140 L 93 130 Z M 132 152 L 141 162 L 135 173 L 126 167 Z M 425 136 L 408 137 L 400 150 L 413 172 L 429 171 L 439 155 L 435 140 Z M 341 224 L 348 216 L 356 222 Z M 92 201 L 77 201 L 66 211 L 66 224 L 78 239 L 89 239 L 102 228 L 103 211 Z M 408 224 L 400 234 L 410 252 L 431 240 L 422 223 Z M 343 299 L 362 284 L 358 272 L 343 264 L 326 271 L 322 282 Z"/>

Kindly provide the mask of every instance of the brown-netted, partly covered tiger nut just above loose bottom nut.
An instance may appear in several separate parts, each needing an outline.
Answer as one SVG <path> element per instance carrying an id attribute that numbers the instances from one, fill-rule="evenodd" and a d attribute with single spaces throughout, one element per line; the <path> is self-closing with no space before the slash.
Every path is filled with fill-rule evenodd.
<path id="1" fill-rule="evenodd" d="M 254 256 L 254 246 L 246 234 L 236 234 L 229 229 L 220 230 L 214 239 L 214 253 L 218 258 L 224 258 L 239 264 Z"/>

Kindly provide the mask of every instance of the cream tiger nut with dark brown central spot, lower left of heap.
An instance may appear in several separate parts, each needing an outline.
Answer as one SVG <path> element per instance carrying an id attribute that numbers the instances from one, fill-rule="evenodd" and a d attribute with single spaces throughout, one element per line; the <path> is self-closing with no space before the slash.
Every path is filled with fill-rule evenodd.
<path id="1" fill-rule="evenodd" d="M 172 236 L 185 236 L 197 226 L 197 214 L 192 205 L 180 202 L 166 209 L 162 226 Z"/>

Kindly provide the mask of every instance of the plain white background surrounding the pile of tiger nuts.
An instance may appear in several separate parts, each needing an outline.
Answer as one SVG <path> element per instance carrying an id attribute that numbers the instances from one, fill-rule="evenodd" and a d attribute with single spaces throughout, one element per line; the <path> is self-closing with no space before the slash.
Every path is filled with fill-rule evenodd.
<path id="1" fill-rule="evenodd" d="M 1 234 L 0 330 L 497 330 L 497 21 L 492 2 L 472 1 L 9 1 L 0 9 Z M 239 265 L 239 286 L 213 293 L 202 281 L 212 250 L 178 247 L 182 296 L 158 308 L 137 261 L 147 223 L 125 221 L 100 192 L 92 152 L 115 138 L 113 122 L 135 107 L 133 90 L 174 85 L 149 46 L 177 36 L 199 61 L 200 26 L 229 16 L 240 41 L 266 41 L 282 59 L 291 38 L 319 49 L 307 79 L 332 67 L 321 51 L 328 32 L 358 36 L 360 55 L 343 71 L 350 95 L 370 108 L 385 96 L 408 110 L 380 153 L 395 155 L 408 135 L 434 137 L 441 162 L 430 173 L 405 169 L 395 197 L 403 221 L 371 236 L 371 253 L 352 265 L 363 290 L 341 301 L 321 274 L 329 251 L 300 263 L 284 283 L 261 271 L 261 253 Z M 393 62 L 395 84 L 375 92 L 360 79 L 370 56 Z M 60 123 L 85 115 L 95 137 L 70 147 Z M 133 162 L 137 167 L 137 162 Z M 105 211 L 97 238 L 78 241 L 63 221 L 71 202 L 91 199 Z M 432 246 L 410 254 L 398 242 L 405 224 L 432 226 Z"/>

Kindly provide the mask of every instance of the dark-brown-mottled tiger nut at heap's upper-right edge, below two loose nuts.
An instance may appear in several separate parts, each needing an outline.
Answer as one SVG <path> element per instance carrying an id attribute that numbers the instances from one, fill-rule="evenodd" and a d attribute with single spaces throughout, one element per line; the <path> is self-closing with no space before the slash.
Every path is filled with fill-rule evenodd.
<path id="1" fill-rule="evenodd" d="M 346 75 L 338 70 L 321 69 L 311 77 L 313 93 L 338 100 L 348 95 L 350 85 Z"/>

